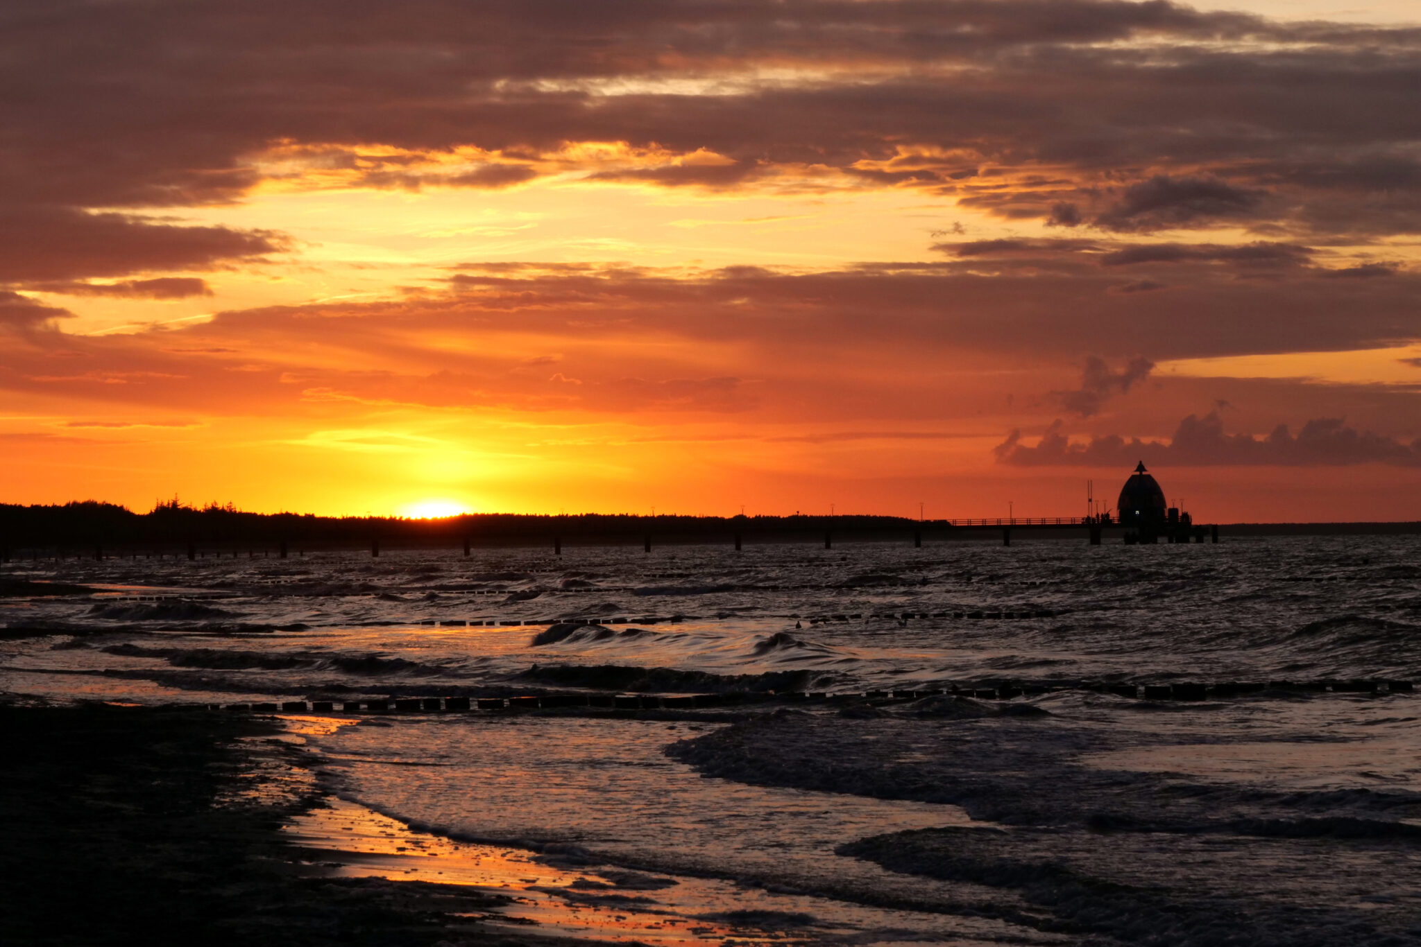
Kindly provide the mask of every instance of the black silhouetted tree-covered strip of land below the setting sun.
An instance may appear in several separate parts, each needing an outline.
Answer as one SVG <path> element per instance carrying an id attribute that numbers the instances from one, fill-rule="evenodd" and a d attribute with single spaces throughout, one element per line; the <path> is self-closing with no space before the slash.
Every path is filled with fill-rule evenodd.
<path id="1" fill-rule="evenodd" d="M 230 503 L 193 507 L 176 497 L 159 501 L 149 513 L 95 500 L 63 505 L 0 504 L 0 544 L 10 549 L 27 547 L 186 547 L 230 545 L 267 548 L 279 542 L 307 548 L 361 547 L 379 541 L 385 547 L 531 545 L 551 542 L 632 542 L 649 535 L 661 541 L 729 541 L 733 534 L 797 535 L 885 531 L 901 535 L 918 524 L 902 517 L 691 517 L 661 514 L 584 513 L 573 515 L 529 515 L 475 513 L 439 520 L 404 517 L 317 517 L 297 513 L 244 513 Z"/>

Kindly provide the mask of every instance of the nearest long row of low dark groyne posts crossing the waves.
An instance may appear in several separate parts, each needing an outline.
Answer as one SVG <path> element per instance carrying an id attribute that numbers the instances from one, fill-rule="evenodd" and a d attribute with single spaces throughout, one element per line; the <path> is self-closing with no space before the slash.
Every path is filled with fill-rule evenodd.
<path id="1" fill-rule="evenodd" d="M 520 694 L 500 697 L 388 697 L 364 700 L 284 700 L 271 703 L 205 704 L 212 710 L 239 713 L 347 713 L 347 714 L 389 714 L 389 713 L 458 713 L 473 710 L 519 711 L 519 710 L 716 710 L 772 703 L 872 703 L 891 704 L 926 700 L 932 697 L 965 697 L 972 700 L 1015 700 L 1044 697 L 1060 691 L 1088 691 L 1110 694 L 1130 700 L 1147 701 L 1206 701 L 1239 697 L 1268 697 L 1269 694 L 1296 697 L 1299 694 L 1349 694 L 1384 696 L 1411 694 L 1414 684 L 1408 680 L 1354 679 L 1354 680 L 1312 680 L 1312 681 L 1223 681 L 1216 684 L 1174 683 L 1174 684 L 1130 684 L 1094 683 L 1077 684 L 982 684 L 952 686 L 926 690 L 868 690 L 850 693 L 827 691 L 732 691 L 720 694 Z"/>

